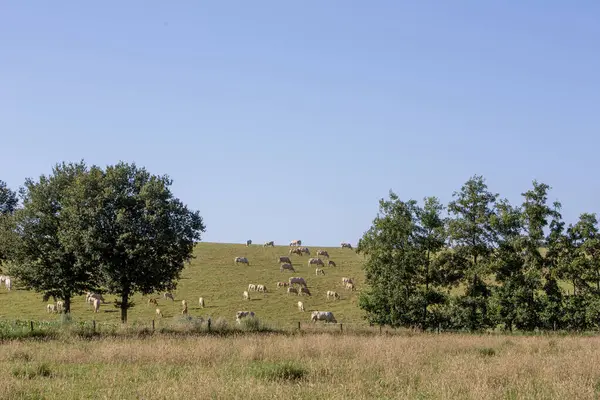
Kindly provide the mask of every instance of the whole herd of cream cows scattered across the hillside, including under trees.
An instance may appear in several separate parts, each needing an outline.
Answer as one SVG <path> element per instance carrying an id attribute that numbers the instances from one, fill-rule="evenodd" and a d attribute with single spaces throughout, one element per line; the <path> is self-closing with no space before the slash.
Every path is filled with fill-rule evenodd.
<path id="1" fill-rule="evenodd" d="M 250 245 L 252 245 L 252 240 L 248 240 L 246 242 L 246 246 L 250 246 Z M 273 241 L 270 241 L 270 242 L 266 242 L 263 246 L 264 247 L 275 247 L 275 243 Z M 301 240 L 293 240 L 290 242 L 289 246 L 290 246 L 289 254 L 287 256 L 279 256 L 278 257 L 279 270 L 281 272 L 284 272 L 284 271 L 296 272 L 296 270 L 294 269 L 294 263 L 292 262 L 292 258 L 291 258 L 292 255 L 297 255 L 300 257 L 302 257 L 304 254 L 306 254 L 308 256 L 311 255 L 311 252 L 307 247 L 301 247 L 302 246 Z M 341 247 L 352 249 L 352 245 L 350 243 L 346 243 L 346 242 L 341 243 Z M 327 251 L 317 250 L 316 256 L 317 257 L 309 258 L 308 262 L 307 262 L 309 267 L 313 266 L 313 265 L 316 267 L 315 268 L 316 276 L 325 275 L 325 271 L 322 268 L 325 266 L 325 263 L 321 259 L 321 257 L 327 258 L 327 266 L 336 267 L 336 263 L 333 260 L 329 259 L 329 254 L 327 253 Z M 247 257 L 235 257 L 234 264 L 235 265 L 246 264 L 247 266 L 249 266 L 250 261 L 248 260 Z M 6 286 L 7 290 L 9 290 L 9 291 L 11 290 L 12 280 L 9 276 L 0 275 L 0 284 L 2 284 L 2 283 Z M 347 290 L 350 290 L 350 291 L 356 290 L 354 281 L 352 278 L 343 277 L 342 285 Z M 291 276 L 288 278 L 287 282 L 285 282 L 285 281 L 277 282 L 276 287 L 277 287 L 277 289 L 287 288 L 288 296 L 290 294 L 296 294 L 297 296 L 303 296 L 303 295 L 312 296 L 312 293 L 310 292 L 308 285 L 306 283 L 306 279 L 301 276 Z M 267 287 L 264 284 L 254 284 L 254 283 L 248 284 L 248 289 L 244 290 L 242 293 L 242 296 L 245 300 L 250 300 L 250 292 L 266 293 Z M 328 290 L 325 293 L 325 295 L 328 300 L 329 299 L 333 299 L 333 300 L 340 299 L 339 293 L 337 293 L 335 290 Z M 164 297 L 164 299 L 170 299 L 173 302 L 175 301 L 173 294 L 170 292 L 163 293 L 162 297 Z M 159 298 L 157 298 L 157 297 L 150 298 L 148 300 L 148 305 L 150 305 L 150 304 L 155 305 L 156 306 L 156 315 L 159 317 L 162 317 L 163 316 L 162 311 L 158 307 L 158 299 Z M 100 305 L 102 303 L 106 302 L 104 300 L 104 297 L 101 294 L 92 293 L 92 292 L 86 293 L 85 301 L 87 304 L 92 306 L 93 311 L 96 313 L 99 312 Z M 205 307 L 205 301 L 204 301 L 203 297 L 200 297 L 198 299 L 198 304 L 199 304 L 200 308 Z M 184 315 L 187 314 L 188 313 L 187 301 L 182 300 L 181 306 L 182 306 L 181 313 Z M 298 306 L 298 310 L 300 310 L 302 312 L 305 311 L 304 303 L 302 301 L 298 301 L 297 306 Z M 46 311 L 48 313 L 60 313 L 60 312 L 64 311 L 64 302 L 61 300 L 58 300 L 56 303 L 49 303 L 46 305 Z M 247 311 L 247 310 L 246 311 L 238 311 L 238 312 L 236 312 L 235 319 L 236 319 L 236 322 L 238 324 L 240 324 L 241 320 L 243 318 L 253 318 L 255 316 L 256 316 L 256 314 L 253 311 Z M 337 320 L 335 319 L 335 316 L 333 315 L 333 313 L 331 311 L 313 311 L 311 313 L 310 319 L 312 322 L 325 321 L 325 322 L 337 323 Z"/>

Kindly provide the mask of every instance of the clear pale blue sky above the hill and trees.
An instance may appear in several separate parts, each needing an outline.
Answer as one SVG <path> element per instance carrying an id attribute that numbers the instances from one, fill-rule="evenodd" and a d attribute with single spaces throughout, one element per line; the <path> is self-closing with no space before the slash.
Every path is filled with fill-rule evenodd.
<path id="1" fill-rule="evenodd" d="M 169 174 L 206 241 L 356 243 L 473 174 L 597 212 L 597 1 L 0 3 L 0 179 Z"/>

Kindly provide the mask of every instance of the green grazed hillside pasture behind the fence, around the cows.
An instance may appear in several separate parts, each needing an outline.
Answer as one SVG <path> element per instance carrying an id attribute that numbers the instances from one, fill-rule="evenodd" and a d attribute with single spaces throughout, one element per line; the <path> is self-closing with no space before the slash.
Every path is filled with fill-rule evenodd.
<path id="1" fill-rule="evenodd" d="M 318 249 L 327 250 L 337 267 L 325 267 L 325 275 L 315 275 L 315 267 L 308 267 L 308 256 L 292 255 L 296 272 L 279 272 L 278 256 L 288 255 L 288 246 L 263 248 L 261 245 L 199 243 L 195 249 L 196 258 L 187 265 L 182 279 L 175 290 L 175 302 L 158 300 L 164 318 L 177 317 L 181 312 L 181 300 L 187 300 L 189 314 L 192 316 L 224 317 L 233 322 L 238 310 L 251 310 L 263 321 L 275 327 L 290 327 L 297 321 L 309 322 L 310 311 L 333 311 L 338 322 L 364 325 L 362 311 L 357 306 L 358 291 L 349 292 L 341 284 L 344 276 L 354 278 L 357 290 L 363 287 L 364 274 L 361 270 L 362 257 L 353 250 L 331 247 L 309 247 L 315 256 Z M 235 265 L 236 256 L 247 257 L 250 266 Z M 326 261 L 326 259 L 325 259 Z M 287 281 L 290 276 L 301 276 L 307 281 L 312 297 L 286 295 L 285 289 L 277 289 L 278 281 Z M 268 293 L 263 295 L 250 292 L 250 300 L 244 300 L 242 293 L 249 283 L 264 284 Z M 341 300 L 326 299 L 326 292 L 335 290 Z M 198 298 L 202 296 L 206 308 L 200 309 Z M 72 317 L 76 320 L 119 321 L 119 310 L 112 302 L 115 296 L 104 296 L 108 304 L 103 304 L 100 312 L 94 314 L 85 304 L 85 296 L 73 300 Z M 298 300 L 304 302 L 306 311 L 298 311 Z M 155 317 L 155 307 L 147 305 L 148 297 L 136 295 L 136 303 L 129 310 L 130 322 L 150 321 Z M 39 293 L 20 290 L 13 287 L 7 292 L 0 287 L 0 319 L 55 320 L 55 314 L 46 312 L 46 302 Z"/>

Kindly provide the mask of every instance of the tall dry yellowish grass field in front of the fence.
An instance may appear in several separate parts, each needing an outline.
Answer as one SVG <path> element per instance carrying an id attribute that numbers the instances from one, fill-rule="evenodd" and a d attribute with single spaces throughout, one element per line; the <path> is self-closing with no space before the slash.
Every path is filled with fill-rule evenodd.
<path id="1" fill-rule="evenodd" d="M 7 342 L 6 399 L 593 399 L 600 338 L 152 337 Z"/>

